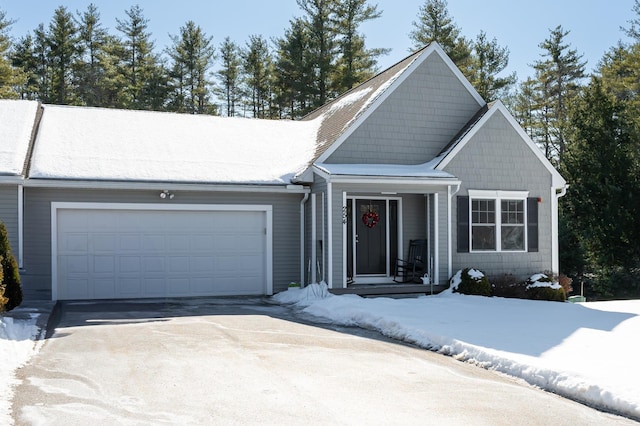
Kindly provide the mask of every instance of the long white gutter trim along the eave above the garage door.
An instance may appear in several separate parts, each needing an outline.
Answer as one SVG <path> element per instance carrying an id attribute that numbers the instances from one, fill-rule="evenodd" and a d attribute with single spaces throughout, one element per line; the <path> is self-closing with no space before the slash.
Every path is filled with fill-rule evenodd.
<path id="1" fill-rule="evenodd" d="M 63 179 L 26 179 L 21 183 L 28 188 L 75 188 L 75 189 L 131 189 L 131 190 L 164 190 L 201 191 L 201 192 L 269 192 L 269 193 L 304 193 L 310 192 L 304 185 L 292 184 L 252 184 L 236 183 L 208 184 L 181 182 L 138 182 L 138 181 L 86 181 Z"/>

